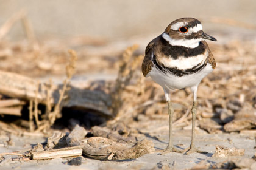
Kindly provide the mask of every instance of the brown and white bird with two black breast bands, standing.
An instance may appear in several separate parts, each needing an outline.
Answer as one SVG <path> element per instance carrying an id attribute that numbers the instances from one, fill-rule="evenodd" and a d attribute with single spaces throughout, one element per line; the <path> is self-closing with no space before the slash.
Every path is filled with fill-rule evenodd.
<path id="1" fill-rule="evenodd" d="M 194 144 L 197 112 L 197 89 L 202 78 L 211 73 L 216 62 L 205 40 L 217 41 L 204 33 L 201 22 L 196 18 L 180 18 L 171 22 L 165 31 L 146 46 L 141 66 L 144 77 L 151 77 L 163 88 L 169 114 L 169 142 L 162 154 L 180 152 L 207 153 Z M 193 93 L 191 144 L 186 149 L 175 148 L 172 143 L 172 117 L 174 109 L 171 92 L 190 88 Z"/>

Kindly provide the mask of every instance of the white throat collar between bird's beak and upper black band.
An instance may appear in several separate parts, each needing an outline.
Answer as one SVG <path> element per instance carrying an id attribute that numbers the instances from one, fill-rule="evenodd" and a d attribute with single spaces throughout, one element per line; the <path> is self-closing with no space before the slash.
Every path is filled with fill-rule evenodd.
<path id="1" fill-rule="evenodd" d="M 199 46 L 199 42 L 202 41 L 202 38 L 199 39 L 172 39 L 168 34 L 162 34 L 163 39 L 169 42 L 172 46 L 183 46 L 194 49 Z"/>

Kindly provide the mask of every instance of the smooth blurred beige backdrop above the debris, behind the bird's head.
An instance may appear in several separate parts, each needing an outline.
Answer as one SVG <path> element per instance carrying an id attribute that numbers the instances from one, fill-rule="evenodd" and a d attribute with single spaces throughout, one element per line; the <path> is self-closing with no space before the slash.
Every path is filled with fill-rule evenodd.
<path id="1" fill-rule="evenodd" d="M 205 32 L 221 36 L 251 35 L 252 30 L 242 28 L 256 25 L 253 0 L 1 0 L 0 4 L 0 25 L 23 9 L 38 39 L 87 35 L 114 41 L 150 35 L 150 41 L 170 22 L 186 16 L 201 20 Z M 24 38 L 21 24 L 15 24 L 9 38 Z"/>

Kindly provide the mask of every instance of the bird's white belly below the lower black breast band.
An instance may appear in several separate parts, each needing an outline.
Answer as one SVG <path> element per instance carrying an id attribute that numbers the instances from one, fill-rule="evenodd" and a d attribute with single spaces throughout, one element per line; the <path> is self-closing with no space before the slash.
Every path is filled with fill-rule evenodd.
<path id="1" fill-rule="evenodd" d="M 166 92 L 168 92 L 169 90 L 198 86 L 202 78 L 212 71 L 212 66 L 207 63 L 204 69 L 202 69 L 200 72 L 196 72 L 191 75 L 184 75 L 182 77 L 177 77 L 171 73 L 165 74 L 155 67 L 152 67 L 152 70 L 148 73 L 148 75 L 152 78 L 152 80 L 160 84 L 160 86 L 162 86 Z"/>

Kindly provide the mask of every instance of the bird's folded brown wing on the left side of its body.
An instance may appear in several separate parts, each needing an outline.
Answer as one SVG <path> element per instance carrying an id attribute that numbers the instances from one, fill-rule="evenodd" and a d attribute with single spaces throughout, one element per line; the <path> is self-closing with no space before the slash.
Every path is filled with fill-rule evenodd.
<path id="1" fill-rule="evenodd" d="M 151 71 L 151 68 L 153 66 L 153 63 L 151 61 L 151 55 L 152 55 L 154 45 L 155 45 L 155 39 L 153 39 L 151 42 L 149 42 L 149 44 L 145 50 L 145 57 L 144 57 L 144 60 L 142 62 L 142 66 L 141 66 L 141 70 L 142 70 L 144 77 L 146 77 L 146 75 L 148 75 L 148 73 Z"/>

